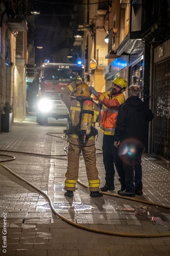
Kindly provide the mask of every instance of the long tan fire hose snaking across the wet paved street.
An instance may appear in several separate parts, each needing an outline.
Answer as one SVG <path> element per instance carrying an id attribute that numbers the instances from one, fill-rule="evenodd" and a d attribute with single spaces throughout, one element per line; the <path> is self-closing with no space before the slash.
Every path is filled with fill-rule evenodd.
<path id="1" fill-rule="evenodd" d="M 54 136 L 54 135 L 53 135 Z M 60 137 L 61 138 L 61 137 Z M 9 152 L 10 150 L 1 150 L 0 151 L 7 151 Z M 23 153 L 23 154 L 32 154 L 32 153 L 27 153 L 27 152 L 21 152 L 21 151 L 11 151 L 11 152 L 15 152 L 15 153 Z M 100 233 L 100 234 L 106 234 L 106 235 L 110 235 L 110 236 L 121 236 L 121 237 L 136 237 L 136 238 L 158 238 L 158 237 L 170 237 L 170 233 L 162 233 L 162 234 L 133 234 L 133 233 L 120 233 L 120 232 L 112 232 L 112 231 L 107 231 L 107 230 L 100 230 L 100 229 L 93 229 L 91 227 L 86 227 L 83 225 L 80 225 L 78 223 L 75 223 L 73 221 L 70 221 L 69 219 L 63 217 L 62 215 L 60 215 L 54 208 L 51 198 L 44 193 L 41 189 L 37 188 L 36 186 L 34 186 L 32 183 L 30 183 L 29 181 L 25 180 L 24 178 L 20 177 L 18 174 L 16 174 L 15 172 L 13 172 L 11 169 L 9 169 L 7 166 L 3 165 L 1 162 L 7 162 L 7 161 L 12 161 L 15 159 L 15 157 L 13 157 L 12 155 L 3 155 L 0 154 L 2 156 L 8 156 L 11 157 L 10 159 L 5 159 L 5 160 L 1 160 L 0 161 L 0 166 L 2 166 L 4 169 L 8 170 L 8 172 L 12 173 L 14 176 L 16 176 L 17 178 L 19 178 L 20 180 L 26 182 L 28 185 L 30 185 L 32 188 L 36 189 L 38 192 L 40 192 L 42 195 L 44 195 L 48 202 L 50 203 L 50 207 L 52 209 L 52 211 L 54 212 L 54 214 L 59 217 L 60 219 L 62 219 L 64 222 L 67 222 L 68 224 L 75 226 L 79 229 L 83 229 L 83 230 L 87 230 L 90 232 L 94 232 L 94 233 Z M 44 154 L 35 154 L 33 153 L 33 155 L 40 155 L 40 156 L 44 156 Z M 47 155 L 45 155 L 47 156 Z M 48 156 L 53 156 L 53 157 L 59 157 L 60 155 L 48 155 Z M 62 155 L 63 156 L 63 155 Z M 64 155 L 66 156 L 66 155 Z M 61 158 L 62 159 L 62 158 Z M 80 185 L 83 185 L 83 187 L 88 188 L 85 184 L 83 184 L 82 182 L 78 181 L 78 183 Z M 159 206 L 159 207 L 163 207 L 166 209 L 170 209 L 169 206 L 164 206 L 162 204 L 156 204 L 156 203 L 152 203 L 152 202 L 148 202 L 148 201 L 144 201 L 144 200 L 139 200 L 139 199 L 134 199 L 131 197 L 124 197 L 124 196 L 120 196 L 120 195 L 116 195 L 116 194 L 112 194 L 112 193 L 107 193 L 107 192 L 102 192 L 104 195 L 109 195 L 109 196 L 115 196 L 115 197 L 120 197 L 123 199 L 127 199 L 127 200 L 132 200 L 132 201 L 136 201 L 136 202 L 140 202 L 140 203 L 145 203 L 145 204 L 151 204 L 154 206 Z"/>

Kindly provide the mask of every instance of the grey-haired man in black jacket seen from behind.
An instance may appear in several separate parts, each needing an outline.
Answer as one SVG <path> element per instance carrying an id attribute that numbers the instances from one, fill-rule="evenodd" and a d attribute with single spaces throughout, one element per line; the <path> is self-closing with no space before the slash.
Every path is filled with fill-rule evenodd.
<path id="1" fill-rule="evenodd" d="M 147 122 L 154 115 L 139 98 L 141 91 L 138 86 L 131 85 L 127 93 L 128 98 L 118 112 L 114 146 L 119 146 L 126 184 L 126 190 L 120 189 L 118 194 L 135 196 L 143 194 L 141 158 L 146 142 Z"/>

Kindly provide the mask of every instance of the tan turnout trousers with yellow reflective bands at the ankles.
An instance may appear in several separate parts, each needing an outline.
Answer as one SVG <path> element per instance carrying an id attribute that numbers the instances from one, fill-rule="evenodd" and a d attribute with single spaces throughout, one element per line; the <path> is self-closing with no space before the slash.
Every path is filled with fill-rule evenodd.
<path id="1" fill-rule="evenodd" d="M 67 153 L 67 172 L 65 174 L 64 189 L 75 191 L 76 182 L 79 177 L 79 158 L 82 152 L 84 163 L 86 166 L 86 174 L 88 178 L 89 191 L 100 191 L 100 180 L 98 177 L 98 169 L 96 167 L 96 147 L 92 146 L 78 146 L 69 143 Z"/>

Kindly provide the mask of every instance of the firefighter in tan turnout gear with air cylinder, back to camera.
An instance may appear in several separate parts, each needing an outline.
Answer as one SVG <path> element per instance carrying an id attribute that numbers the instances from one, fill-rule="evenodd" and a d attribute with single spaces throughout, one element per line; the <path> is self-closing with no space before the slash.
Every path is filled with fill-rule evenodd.
<path id="1" fill-rule="evenodd" d="M 75 97 L 70 94 L 74 92 Z M 100 180 L 96 167 L 95 135 L 98 134 L 95 123 L 101 120 L 98 105 L 90 97 L 90 89 L 83 81 L 72 82 L 60 93 L 61 100 L 67 106 L 70 122 L 66 130 L 68 145 L 67 172 L 65 174 L 65 196 L 74 196 L 79 174 L 79 157 L 82 152 L 90 196 L 103 196 L 99 193 Z"/>

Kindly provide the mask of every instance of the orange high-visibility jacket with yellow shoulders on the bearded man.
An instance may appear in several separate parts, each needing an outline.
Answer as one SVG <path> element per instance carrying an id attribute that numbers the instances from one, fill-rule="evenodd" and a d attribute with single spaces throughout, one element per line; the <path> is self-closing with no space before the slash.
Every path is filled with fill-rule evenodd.
<path id="1" fill-rule="evenodd" d="M 103 104 L 100 131 L 106 135 L 114 135 L 118 109 L 125 101 L 124 94 L 118 93 L 111 96 L 110 91 L 106 91 L 104 93 L 98 93 L 97 99 Z"/>

